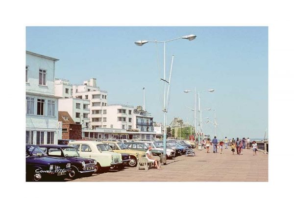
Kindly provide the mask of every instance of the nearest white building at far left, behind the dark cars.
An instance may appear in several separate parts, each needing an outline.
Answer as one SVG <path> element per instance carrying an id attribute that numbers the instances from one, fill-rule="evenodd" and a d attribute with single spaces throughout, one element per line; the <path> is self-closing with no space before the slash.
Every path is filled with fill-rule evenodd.
<path id="1" fill-rule="evenodd" d="M 26 51 L 26 143 L 57 144 L 57 139 L 61 139 L 58 97 L 54 95 L 56 61 L 56 58 Z"/>

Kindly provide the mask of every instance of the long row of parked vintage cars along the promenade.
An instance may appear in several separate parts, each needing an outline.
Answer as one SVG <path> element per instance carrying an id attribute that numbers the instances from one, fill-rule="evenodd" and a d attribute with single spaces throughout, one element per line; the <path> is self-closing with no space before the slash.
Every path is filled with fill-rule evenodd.
<path id="1" fill-rule="evenodd" d="M 162 140 L 61 139 L 58 143 L 26 144 L 26 181 L 62 181 L 88 177 L 109 169 L 123 169 L 124 166 L 136 167 L 138 159 L 145 157 L 149 145 L 153 155 L 163 156 Z M 190 141 L 167 140 L 165 157 L 172 159 L 194 147 Z"/>

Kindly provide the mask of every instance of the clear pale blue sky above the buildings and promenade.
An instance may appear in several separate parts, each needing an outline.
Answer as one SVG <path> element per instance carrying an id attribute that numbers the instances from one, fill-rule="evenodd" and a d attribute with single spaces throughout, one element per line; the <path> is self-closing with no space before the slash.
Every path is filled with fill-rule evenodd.
<path id="1" fill-rule="evenodd" d="M 173 117 L 193 121 L 185 106 L 194 108 L 194 94 L 184 90 L 215 89 L 201 94 L 201 109 L 216 110 L 217 136 L 262 138 L 268 128 L 268 27 L 26 27 L 26 50 L 60 59 L 56 78 L 73 84 L 97 78 L 108 104 L 143 105 L 145 87 L 147 111 L 163 122 L 163 45 L 134 42 L 188 34 L 197 37 L 167 43 L 167 76 L 174 55 L 167 123 Z M 213 112 L 202 117 L 213 121 Z M 213 135 L 214 127 L 204 123 L 203 131 Z"/>

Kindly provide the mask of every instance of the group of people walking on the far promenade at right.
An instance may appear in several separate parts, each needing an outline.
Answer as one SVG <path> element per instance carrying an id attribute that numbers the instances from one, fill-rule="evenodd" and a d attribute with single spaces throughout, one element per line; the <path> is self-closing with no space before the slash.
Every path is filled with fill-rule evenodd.
<path id="1" fill-rule="evenodd" d="M 204 148 L 207 150 L 207 153 L 209 153 L 210 145 L 213 146 L 213 153 L 217 153 L 218 148 L 220 148 L 221 154 L 222 154 L 223 146 L 224 146 L 224 149 L 228 149 L 228 146 L 230 146 L 233 155 L 235 154 L 235 148 L 237 151 L 237 155 L 243 155 L 243 149 L 245 149 L 245 148 L 250 149 L 250 142 L 251 142 L 251 140 L 249 138 L 247 138 L 247 139 L 237 138 L 235 141 L 234 138 L 229 140 L 226 137 L 223 140 L 221 139 L 221 141 L 219 142 L 216 136 L 212 140 L 210 140 L 210 139 L 205 140 L 204 139 L 202 141 Z M 253 149 L 253 155 L 256 155 L 256 152 L 257 152 L 256 141 L 252 141 L 252 149 Z"/>

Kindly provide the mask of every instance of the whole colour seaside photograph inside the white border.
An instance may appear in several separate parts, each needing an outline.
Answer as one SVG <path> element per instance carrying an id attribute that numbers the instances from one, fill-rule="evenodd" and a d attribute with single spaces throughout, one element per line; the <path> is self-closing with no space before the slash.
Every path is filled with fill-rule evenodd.
<path id="1" fill-rule="evenodd" d="M 25 181 L 268 182 L 268 29 L 26 26 Z"/>

